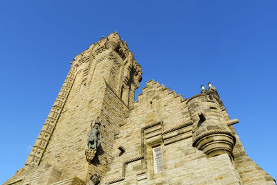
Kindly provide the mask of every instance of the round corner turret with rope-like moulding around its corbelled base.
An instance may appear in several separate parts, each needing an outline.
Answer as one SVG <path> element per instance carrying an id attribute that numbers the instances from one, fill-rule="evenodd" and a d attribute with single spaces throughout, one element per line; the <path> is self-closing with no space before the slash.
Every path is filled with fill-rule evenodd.
<path id="1" fill-rule="evenodd" d="M 202 91 L 204 88 L 202 88 Z M 193 146 L 208 157 L 223 153 L 233 157 L 235 136 L 231 133 L 217 99 L 211 94 L 197 94 L 187 102 L 193 121 Z"/>

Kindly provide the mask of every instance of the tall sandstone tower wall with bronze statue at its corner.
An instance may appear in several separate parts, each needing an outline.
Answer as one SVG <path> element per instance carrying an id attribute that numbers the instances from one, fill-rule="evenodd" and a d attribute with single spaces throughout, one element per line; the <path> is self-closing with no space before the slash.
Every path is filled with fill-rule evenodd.
<path id="1" fill-rule="evenodd" d="M 15 179 L 26 182 L 23 171 L 28 173 L 44 165 L 55 166 L 60 172 L 53 181 L 57 184 L 69 184 L 74 177 L 87 182 L 94 173 L 104 176 L 112 157 L 114 135 L 134 105 L 141 73 L 117 33 L 101 38 L 77 55 L 26 165 L 7 183 Z M 84 155 L 87 134 L 96 118 L 100 120 L 102 142 L 95 159 L 88 163 Z"/>

